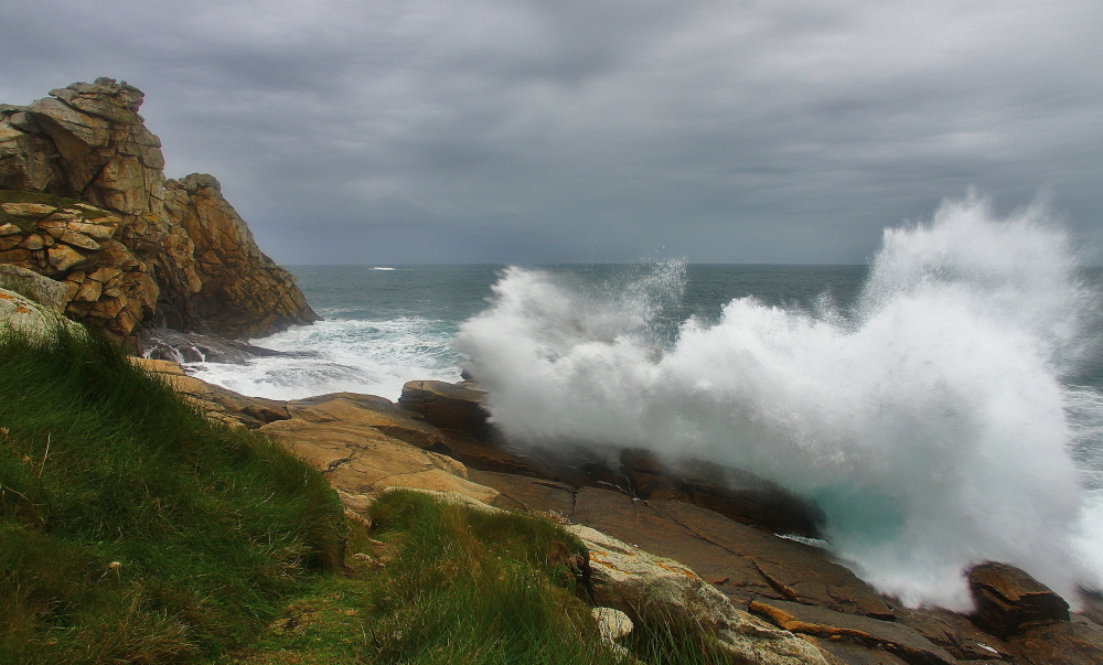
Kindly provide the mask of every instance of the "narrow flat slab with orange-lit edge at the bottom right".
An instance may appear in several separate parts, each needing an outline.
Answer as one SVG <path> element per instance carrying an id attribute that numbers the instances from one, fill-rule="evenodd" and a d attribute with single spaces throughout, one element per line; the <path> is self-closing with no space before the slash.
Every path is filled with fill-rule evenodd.
<path id="1" fill-rule="evenodd" d="M 895 621 L 881 621 L 804 605 L 784 600 L 756 600 L 751 611 L 768 616 L 779 628 L 816 637 L 877 646 L 911 665 L 953 665 L 957 661 L 918 631 Z"/>

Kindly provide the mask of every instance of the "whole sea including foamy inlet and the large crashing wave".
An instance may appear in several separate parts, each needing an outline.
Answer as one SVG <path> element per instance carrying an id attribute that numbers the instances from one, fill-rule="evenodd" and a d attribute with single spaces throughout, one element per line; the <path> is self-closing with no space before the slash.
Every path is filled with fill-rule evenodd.
<path id="1" fill-rule="evenodd" d="M 1016 565 L 1103 590 L 1103 270 L 1037 207 L 888 227 L 867 265 L 290 266 L 323 318 L 186 364 L 238 393 L 474 377 L 520 442 L 645 447 L 813 498 L 912 605 Z"/>

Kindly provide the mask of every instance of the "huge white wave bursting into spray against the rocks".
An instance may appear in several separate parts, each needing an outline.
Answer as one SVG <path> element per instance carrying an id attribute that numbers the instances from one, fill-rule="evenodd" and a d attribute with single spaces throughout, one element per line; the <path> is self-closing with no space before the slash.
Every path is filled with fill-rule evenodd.
<path id="1" fill-rule="evenodd" d="M 494 420 L 518 440 L 642 446 L 777 481 L 910 605 L 970 608 L 963 571 L 984 560 L 1072 602 L 1099 588 L 1103 401 L 1069 385 L 1099 341 L 1099 294 L 1042 208 L 946 203 L 885 232 L 854 308 L 743 298 L 666 345 L 656 290 L 682 272 L 664 270 L 599 294 L 507 269 L 457 337 Z"/>

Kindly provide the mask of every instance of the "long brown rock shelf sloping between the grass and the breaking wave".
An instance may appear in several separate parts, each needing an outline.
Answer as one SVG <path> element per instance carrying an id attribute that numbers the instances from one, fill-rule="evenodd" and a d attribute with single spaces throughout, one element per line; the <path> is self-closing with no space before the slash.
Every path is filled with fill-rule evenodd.
<path id="1" fill-rule="evenodd" d="M 586 464 L 518 454 L 485 419 L 474 417 L 482 397 L 470 383 L 411 382 L 401 406 L 352 393 L 272 403 L 221 388 L 204 394 L 202 382 L 179 378 L 183 372 L 174 363 L 136 362 L 176 377 L 170 380 L 213 419 L 279 437 L 330 479 L 354 514 L 389 487 L 409 487 L 572 525 L 590 548 L 599 604 L 631 616 L 641 610 L 641 590 L 683 580 L 678 591 L 651 600 L 667 611 L 696 608 L 692 612 L 709 616 L 740 662 L 1103 663 L 1103 628 L 1096 623 L 1103 601 L 1097 598 L 1085 596 L 1083 611 L 1070 614 L 1063 600 L 1021 570 L 987 564 L 970 576 L 975 615 L 900 607 L 826 550 L 775 535 L 761 521 L 741 523 L 739 514 L 699 505 L 684 494 L 641 497 L 623 470 L 587 471 Z M 261 422 L 258 414 L 270 420 Z M 633 460 L 636 470 L 646 464 L 654 475 L 698 482 L 684 468 L 672 471 L 639 455 L 625 451 L 621 459 Z M 707 582 L 709 590 L 690 592 L 694 580 Z"/>

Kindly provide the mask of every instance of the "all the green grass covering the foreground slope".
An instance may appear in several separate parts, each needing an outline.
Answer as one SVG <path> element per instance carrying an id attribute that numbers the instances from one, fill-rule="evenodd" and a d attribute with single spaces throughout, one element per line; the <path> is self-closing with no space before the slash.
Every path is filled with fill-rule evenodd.
<path id="1" fill-rule="evenodd" d="M 727 662 L 646 612 L 602 644 L 542 517 L 398 491 L 366 518 L 107 341 L 0 339 L 0 665 Z"/>

